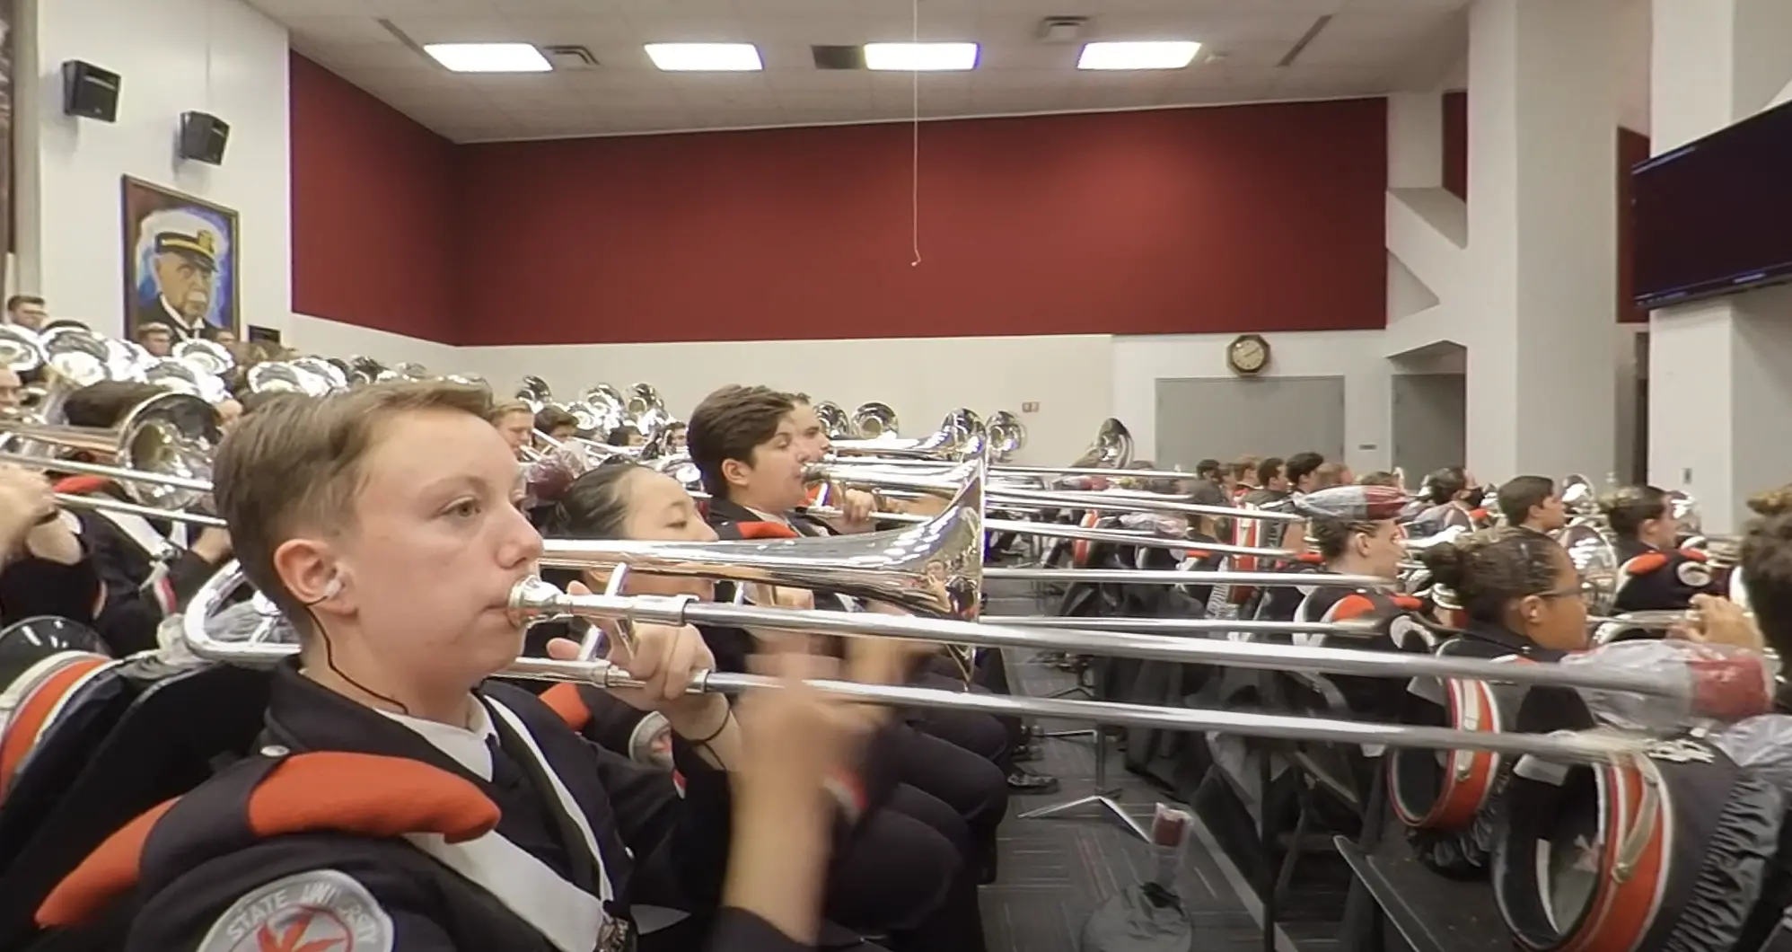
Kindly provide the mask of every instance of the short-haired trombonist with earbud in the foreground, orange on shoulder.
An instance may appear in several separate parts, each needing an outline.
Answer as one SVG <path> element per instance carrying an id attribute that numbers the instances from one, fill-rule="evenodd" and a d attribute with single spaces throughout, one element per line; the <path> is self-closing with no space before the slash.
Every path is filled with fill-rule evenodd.
<path id="1" fill-rule="evenodd" d="M 523 644 L 507 599 L 541 554 L 486 403 L 378 384 L 269 405 L 226 437 L 219 509 L 301 653 L 272 674 L 258 751 L 116 834 L 39 922 L 134 886 L 125 952 L 615 952 L 634 948 L 633 896 L 670 871 L 717 914 L 643 948 L 697 948 L 686 929 L 706 925 L 715 952 L 814 941 L 823 778 L 857 758 L 876 708 L 796 681 L 738 710 L 686 694 L 711 663 L 701 636 L 636 626 L 613 660 L 645 687 L 615 696 L 667 717 L 679 798 L 534 696 L 482 687 Z M 120 850 L 138 853 L 122 882 Z"/>

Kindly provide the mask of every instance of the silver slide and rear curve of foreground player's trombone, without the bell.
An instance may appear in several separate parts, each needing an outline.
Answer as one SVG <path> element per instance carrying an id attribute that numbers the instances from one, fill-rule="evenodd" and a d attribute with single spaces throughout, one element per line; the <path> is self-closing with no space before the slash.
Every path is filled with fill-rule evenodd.
<path id="1" fill-rule="evenodd" d="M 226 565 L 219 574 L 215 574 L 188 606 L 186 615 L 181 620 L 181 636 L 186 649 L 211 662 L 240 663 L 240 665 L 269 665 L 290 658 L 297 653 L 297 645 L 287 644 L 267 644 L 267 642 L 224 642 L 215 638 L 206 631 L 206 620 L 217 613 L 224 604 L 224 599 L 242 584 L 242 572 L 237 563 Z M 957 627 L 953 622 L 939 622 L 930 619 L 894 619 L 880 615 L 864 613 L 826 613 L 826 611 L 790 611 L 790 610 L 771 610 L 771 608 L 744 608 L 744 606 L 722 606 L 722 604 L 694 604 L 688 599 L 624 599 L 616 595 L 566 595 L 552 586 L 545 586 L 538 579 L 525 579 L 518 583 L 513 592 L 513 610 L 518 620 L 536 619 L 536 617 L 561 617 L 566 613 L 588 617 L 588 619 L 638 619 L 654 620 L 659 619 L 665 624 L 688 624 L 699 619 L 713 624 L 731 624 L 731 626 L 758 626 L 758 627 L 780 627 L 780 629 L 805 629 L 821 631 L 830 635 L 889 635 L 889 636 L 909 636 L 925 640 L 941 640 L 957 636 Z M 941 629 L 939 626 L 953 626 Z M 968 627 L 993 627 L 993 626 L 968 626 Z M 1027 635 L 1027 633 L 1021 633 Z M 1084 649 L 1095 649 L 1107 640 L 1111 635 L 1102 635 L 1100 638 L 1084 638 Z M 1145 636 L 1149 638 L 1149 636 Z M 1181 642 L 1176 638 L 1159 638 L 1165 642 L 1179 644 L 1199 644 L 1197 640 Z M 1364 651 L 1326 651 L 1326 649 L 1299 649 L 1290 651 L 1283 645 L 1256 645 L 1256 644 L 1220 644 L 1213 642 L 1215 653 L 1224 653 L 1228 658 L 1236 662 L 1251 662 L 1254 667 L 1263 669 L 1310 669 L 1310 671 L 1331 671 L 1337 665 L 1346 665 L 1351 671 L 1362 671 L 1357 667 L 1358 660 L 1374 653 Z M 1337 654 L 1333 663 L 1324 660 L 1324 654 Z M 1414 662 L 1448 662 L 1448 672 L 1439 672 L 1441 676 L 1468 676 L 1468 678 L 1498 678 L 1509 681 L 1527 681 L 1527 683 L 1552 683 L 1557 687 L 1590 687 L 1597 690 L 1640 690 L 1656 696 L 1679 696 L 1677 685 L 1667 679 L 1654 679 L 1627 672 L 1595 672 L 1595 671 L 1570 671 L 1555 665 L 1502 665 L 1498 662 L 1480 662 L 1480 660 L 1455 660 L 1455 658 L 1421 658 L 1421 656 L 1398 656 L 1389 654 L 1380 658 L 1383 667 L 1380 674 L 1387 676 L 1417 676 L 1419 669 Z M 1403 667 L 1405 665 L 1405 667 Z M 1536 669 L 1536 671 L 1529 671 Z M 1548 672 L 1548 674 L 1545 674 Z M 590 683 L 602 688 L 624 688 L 624 687 L 642 687 L 640 679 L 631 678 L 625 671 L 609 662 L 602 660 L 550 660 L 550 658 L 518 658 L 504 671 L 498 672 L 504 678 L 527 678 L 541 681 L 573 681 Z M 1274 739 L 1294 739 L 1294 740 L 1328 740 L 1344 744 L 1382 744 L 1398 748 L 1426 748 L 1426 749 L 1487 749 L 1496 753 L 1505 753 L 1512 757 L 1539 757 L 1548 760 L 1566 760 L 1566 762 L 1591 762 L 1604 764 L 1615 757 L 1624 757 L 1629 753 L 1645 751 L 1654 740 L 1649 737 L 1616 733 L 1616 731 L 1584 731 L 1584 733 L 1555 733 L 1555 735 L 1536 735 L 1536 733 L 1487 733 L 1487 731 L 1459 731 L 1448 728 L 1430 728 L 1430 726 L 1401 726 L 1401 724 L 1371 724 L 1358 721 L 1331 721 L 1322 717 L 1305 717 L 1305 715 L 1274 715 L 1274 714 L 1245 714 L 1245 712 L 1226 712 L 1226 710 L 1202 710 L 1202 708 L 1170 708 L 1170 706 L 1150 706 L 1150 705 L 1120 705 L 1111 701 L 1070 701 L 1070 699 L 1047 699 L 1047 697 L 1005 697 L 1005 696 L 984 696 L 957 690 L 935 690 L 935 688 L 914 688 L 914 687 L 896 687 L 896 685 L 862 685 L 855 681 L 808 681 L 815 690 L 842 697 L 848 701 L 873 703 L 873 705 L 894 705 L 894 706 L 919 706 L 919 708 L 939 708 L 939 710 L 975 710 L 984 714 L 993 714 L 1000 717 L 1061 717 L 1073 721 L 1093 721 L 1102 724 L 1124 724 L 1124 726 L 1143 726 L 1143 728 L 1161 728 L 1161 730 L 1183 730 L 1183 731 L 1222 731 L 1238 733 L 1251 737 L 1274 737 Z M 744 690 L 763 690 L 776 688 L 780 685 L 774 678 L 762 678 L 753 674 L 726 674 L 706 671 L 699 672 L 692 683 L 692 692 L 724 692 L 737 694 Z"/>

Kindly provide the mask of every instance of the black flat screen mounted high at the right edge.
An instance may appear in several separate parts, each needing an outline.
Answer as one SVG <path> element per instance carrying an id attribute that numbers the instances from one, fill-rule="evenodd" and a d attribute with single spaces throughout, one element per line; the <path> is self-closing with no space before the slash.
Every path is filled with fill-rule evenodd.
<path id="1" fill-rule="evenodd" d="M 1792 280 L 1792 104 L 1638 163 L 1631 176 L 1638 307 Z"/>

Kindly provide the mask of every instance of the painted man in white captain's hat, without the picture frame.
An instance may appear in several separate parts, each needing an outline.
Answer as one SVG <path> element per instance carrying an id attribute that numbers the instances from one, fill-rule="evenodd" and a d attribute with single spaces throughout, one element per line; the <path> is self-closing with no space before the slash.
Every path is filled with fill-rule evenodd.
<path id="1" fill-rule="evenodd" d="M 219 229 L 190 213 L 156 213 L 143 221 L 131 326 L 163 325 L 176 341 L 231 326 L 213 307 L 219 262 L 228 253 Z"/>

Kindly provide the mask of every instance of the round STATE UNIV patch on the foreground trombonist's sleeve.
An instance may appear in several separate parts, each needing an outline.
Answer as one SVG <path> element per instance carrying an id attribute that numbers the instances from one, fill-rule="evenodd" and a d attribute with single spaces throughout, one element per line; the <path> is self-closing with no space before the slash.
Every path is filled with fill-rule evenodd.
<path id="1" fill-rule="evenodd" d="M 355 877 L 314 870 L 237 900 L 197 952 L 392 952 L 392 918 Z"/>

